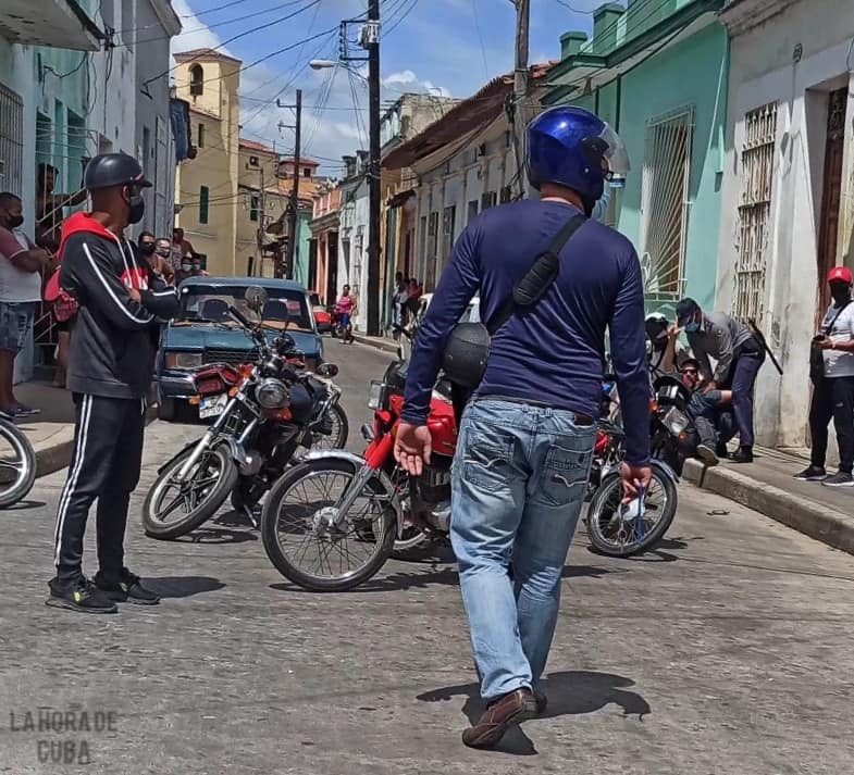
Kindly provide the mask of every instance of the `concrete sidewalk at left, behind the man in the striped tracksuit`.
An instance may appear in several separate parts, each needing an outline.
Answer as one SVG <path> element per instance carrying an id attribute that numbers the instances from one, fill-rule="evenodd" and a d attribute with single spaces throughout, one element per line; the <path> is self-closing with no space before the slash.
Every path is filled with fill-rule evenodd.
<path id="1" fill-rule="evenodd" d="M 67 390 L 50 383 L 32 382 L 15 385 L 17 400 L 41 413 L 17 420 L 15 424 L 27 435 L 36 450 L 36 476 L 46 476 L 64 468 L 74 448 L 74 402 Z M 149 408 L 148 421 L 154 417 Z"/>

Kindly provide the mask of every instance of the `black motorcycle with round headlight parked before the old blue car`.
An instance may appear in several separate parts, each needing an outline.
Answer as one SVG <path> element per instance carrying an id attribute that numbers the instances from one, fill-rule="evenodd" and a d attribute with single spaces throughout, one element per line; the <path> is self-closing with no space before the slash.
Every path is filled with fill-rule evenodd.
<path id="1" fill-rule="evenodd" d="M 260 314 L 267 293 L 250 288 L 246 299 Z M 335 376 L 337 367 L 322 364 L 318 376 L 306 373 L 286 333 L 269 342 L 262 323 L 250 322 L 234 307 L 228 312 L 252 337 L 257 361 L 236 370 L 210 366 L 199 375 L 200 392 L 194 401 L 200 414 L 216 420 L 201 439 L 159 470 L 143 505 L 145 530 L 153 538 L 190 533 L 228 496 L 256 524 L 252 508 L 300 446 L 310 447 L 319 435 L 332 433 L 331 413 L 344 418 L 346 434 L 346 415 L 338 407 L 341 390 L 319 378 Z"/>

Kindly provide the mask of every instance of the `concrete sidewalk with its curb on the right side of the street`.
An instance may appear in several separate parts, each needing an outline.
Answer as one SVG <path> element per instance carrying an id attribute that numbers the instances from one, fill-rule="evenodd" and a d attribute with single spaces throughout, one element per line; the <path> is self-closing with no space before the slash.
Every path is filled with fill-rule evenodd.
<path id="1" fill-rule="evenodd" d="M 793 475 L 809 463 L 807 457 L 757 449 L 755 462 L 721 462 L 714 468 L 690 460 L 684 478 L 793 527 L 828 546 L 854 553 L 854 488 L 822 487 Z"/>

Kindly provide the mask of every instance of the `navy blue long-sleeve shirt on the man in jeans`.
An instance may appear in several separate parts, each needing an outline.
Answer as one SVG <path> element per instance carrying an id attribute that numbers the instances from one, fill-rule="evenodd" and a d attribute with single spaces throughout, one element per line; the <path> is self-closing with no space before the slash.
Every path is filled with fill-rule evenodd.
<path id="1" fill-rule="evenodd" d="M 403 420 L 423 424 L 445 341 L 480 292 L 488 322 L 534 259 L 578 214 L 570 204 L 522 200 L 487 210 L 460 235 L 421 325 L 406 384 Z M 479 398 L 505 397 L 597 416 L 605 333 L 626 430 L 627 461 L 649 459 L 649 377 L 643 280 L 631 242 L 596 221 L 560 253 L 555 283 L 536 307 L 513 314 L 492 338 Z"/>

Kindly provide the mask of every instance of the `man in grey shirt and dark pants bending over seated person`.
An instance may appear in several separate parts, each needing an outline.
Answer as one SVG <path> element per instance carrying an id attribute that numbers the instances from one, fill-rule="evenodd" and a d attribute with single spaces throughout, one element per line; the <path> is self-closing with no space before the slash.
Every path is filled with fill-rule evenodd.
<path id="1" fill-rule="evenodd" d="M 732 390 L 732 411 L 739 427 L 735 463 L 753 462 L 753 391 L 765 363 L 765 348 L 750 328 L 723 312 L 704 313 L 693 299 L 677 304 L 677 325 L 684 328 L 691 351 L 700 363 L 701 389 Z M 717 365 L 711 371 L 709 358 Z"/>

